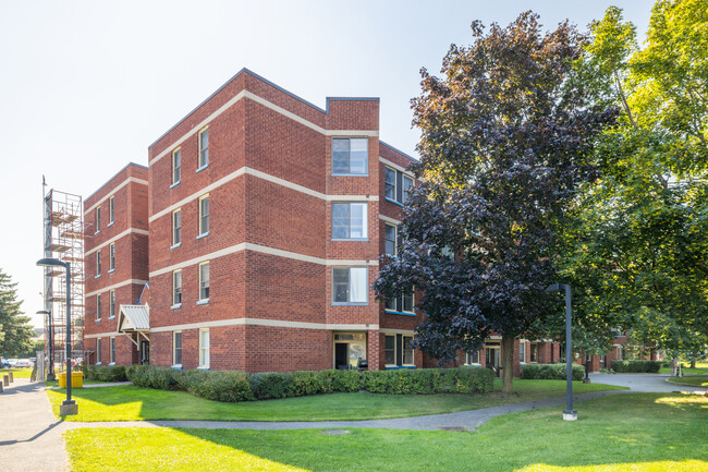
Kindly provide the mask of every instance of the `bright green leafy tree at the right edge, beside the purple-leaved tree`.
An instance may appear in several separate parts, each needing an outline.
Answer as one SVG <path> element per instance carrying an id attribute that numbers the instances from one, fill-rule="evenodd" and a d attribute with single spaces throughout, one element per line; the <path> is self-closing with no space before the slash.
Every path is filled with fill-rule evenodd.
<path id="1" fill-rule="evenodd" d="M 622 112 L 576 201 L 564 273 L 598 319 L 689 354 L 708 336 L 708 1 L 657 2 L 644 49 L 620 9 L 590 31 L 578 76 Z"/>

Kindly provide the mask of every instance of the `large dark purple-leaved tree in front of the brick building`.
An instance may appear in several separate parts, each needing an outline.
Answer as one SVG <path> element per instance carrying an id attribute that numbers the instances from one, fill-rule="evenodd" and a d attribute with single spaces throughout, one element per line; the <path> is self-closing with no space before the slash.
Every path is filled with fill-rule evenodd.
<path id="1" fill-rule="evenodd" d="M 423 294 L 415 343 L 441 362 L 501 335 L 509 392 L 514 339 L 559 311 L 544 292 L 559 281 L 554 234 L 577 185 L 595 179 L 594 144 L 615 111 L 588 108 L 572 80 L 584 37 L 569 23 L 544 33 L 526 12 L 472 32 L 469 47 L 450 48 L 442 77 L 422 71 L 422 160 L 412 169 L 424 181 L 399 257 L 375 288 Z"/>

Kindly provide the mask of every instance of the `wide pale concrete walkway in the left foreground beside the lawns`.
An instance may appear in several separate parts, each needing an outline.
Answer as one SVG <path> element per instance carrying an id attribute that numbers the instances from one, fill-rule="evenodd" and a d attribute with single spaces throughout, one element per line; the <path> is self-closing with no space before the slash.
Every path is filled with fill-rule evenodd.
<path id="1" fill-rule="evenodd" d="M 68 471 L 69 459 L 41 382 L 17 378 L 0 394 L 0 470 Z"/>

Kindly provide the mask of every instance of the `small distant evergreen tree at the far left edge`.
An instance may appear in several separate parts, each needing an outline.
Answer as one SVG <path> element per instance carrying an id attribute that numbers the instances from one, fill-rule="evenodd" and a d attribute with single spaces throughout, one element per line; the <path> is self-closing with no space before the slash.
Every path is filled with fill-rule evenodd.
<path id="1" fill-rule="evenodd" d="M 35 330 L 29 326 L 29 317 L 24 316 L 17 301 L 16 283 L 0 269 L 0 352 L 14 356 L 32 347 Z"/>

